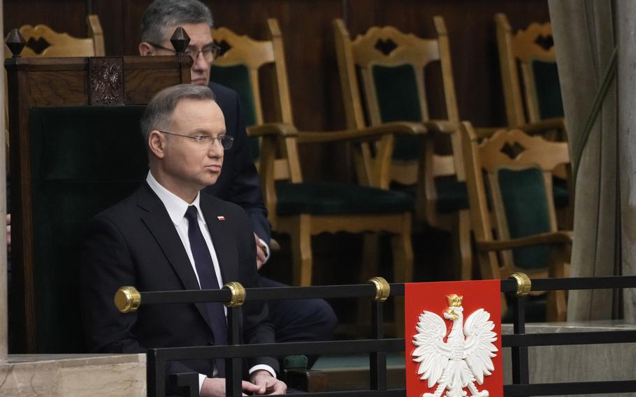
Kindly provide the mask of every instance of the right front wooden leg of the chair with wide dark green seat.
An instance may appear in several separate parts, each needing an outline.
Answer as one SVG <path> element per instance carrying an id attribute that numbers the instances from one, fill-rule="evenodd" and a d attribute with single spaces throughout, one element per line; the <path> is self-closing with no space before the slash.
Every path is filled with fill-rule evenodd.
<path id="1" fill-rule="evenodd" d="M 413 280 L 413 246 L 411 244 L 411 215 L 403 217 L 402 233 L 391 238 L 393 248 L 393 282 Z M 393 298 L 395 305 L 396 337 L 404 336 L 404 297 Z"/>

